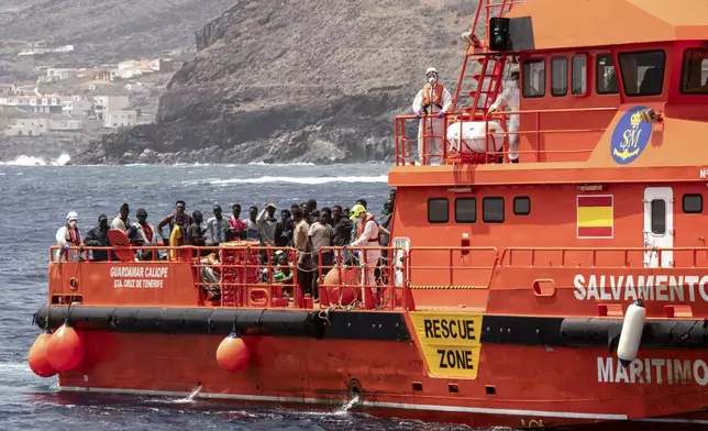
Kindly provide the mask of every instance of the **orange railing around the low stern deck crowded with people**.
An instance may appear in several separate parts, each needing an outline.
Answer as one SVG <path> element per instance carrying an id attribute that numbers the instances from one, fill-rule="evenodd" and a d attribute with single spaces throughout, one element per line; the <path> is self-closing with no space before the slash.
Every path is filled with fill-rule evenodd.
<path id="1" fill-rule="evenodd" d="M 96 251 L 106 252 L 107 259 L 92 261 L 90 256 Z M 372 251 L 383 258 L 370 259 L 367 252 Z M 323 258 L 323 253 L 328 252 L 334 256 L 331 264 Z M 81 265 L 188 264 L 192 267 L 200 307 L 312 309 L 317 308 L 313 303 L 314 289 L 318 289 L 321 300 L 320 309 L 394 310 L 413 307 L 406 294 L 407 254 L 405 250 L 396 247 L 323 247 L 317 254 L 299 253 L 291 247 L 248 244 L 204 247 L 81 246 L 69 247 L 67 252 L 62 252 L 58 246 L 51 247 L 52 263 L 67 262 L 67 256 L 70 263 L 80 261 Z M 391 256 L 397 256 L 397 259 Z M 373 279 L 369 279 L 367 270 L 361 270 L 367 267 L 375 268 Z M 332 268 L 338 268 L 342 281 L 328 285 L 324 280 Z M 67 277 L 75 275 L 74 272 L 69 273 Z M 302 277 L 311 281 L 311 289 L 301 286 Z M 353 294 L 346 303 L 342 302 L 342 298 L 349 298 L 344 294 Z"/>

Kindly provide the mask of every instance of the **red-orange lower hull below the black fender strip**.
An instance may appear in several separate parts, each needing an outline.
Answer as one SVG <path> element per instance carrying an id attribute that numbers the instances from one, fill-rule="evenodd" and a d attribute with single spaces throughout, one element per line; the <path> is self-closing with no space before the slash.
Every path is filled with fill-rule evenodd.
<path id="1" fill-rule="evenodd" d="M 667 369 L 652 367 L 642 383 L 610 364 L 607 349 L 485 344 L 477 378 L 462 379 L 431 377 L 411 340 L 245 335 L 251 363 L 226 373 L 215 361 L 221 334 L 80 334 L 84 364 L 59 376 L 60 390 L 185 397 L 201 385 L 201 398 L 307 408 L 340 407 L 358 394 L 357 410 L 473 427 L 708 423 L 686 416 L 706 405 L 703 380 L 682 369 L 687 378 L 670 383 Z M 642 355 L 701 361 L 688 350 Z"/>

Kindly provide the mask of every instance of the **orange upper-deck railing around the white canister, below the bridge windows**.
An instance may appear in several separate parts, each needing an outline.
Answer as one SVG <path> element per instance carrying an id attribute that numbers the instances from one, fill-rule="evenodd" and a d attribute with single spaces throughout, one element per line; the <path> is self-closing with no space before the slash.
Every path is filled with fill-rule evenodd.
<path id="1" fill-rule="evenodd" d="M 396 166 L 406 165 L 458 165 L 458 164 L 500 164 L 509 161 L 509 135 L 533 136 L 535 150 L 518 150 L 515 153 L 523 157 L 523 162 L 541 162 L 542 155 L 546 162 L 553 162 L 554 155 L 563 158 L 564 155 L 590 154 L 596 142 L 587 148 L 574 150 L 541 150 L 541 137 L 551 134 L 578 134 L 578 133 L 602 133 L 605 128 L 587 129 L 529 129 L 517 132 L 504 131 L 500 123 L 504 117 L 519 115 L 520 122 L 523 117 L 532 117 L 535 124 L 541 124 L 544 114 L 563 113 L 593 113 L 615 112 L 617 108 L 582 108 L 582 109 L 545 109 L 545 110 L 522 110 L 522 111 L 498 111 L 491 114 L 480 112 L 471 114 L 467 112 L 447 113 L 443 119 L 438 115 L 397 115 L 395 120 L 395 145 Z M 465 123 L 477 122 L 484 124 L 473 139 L 463 134 Z M 495 126 L 490 130 L 490 123 Z M 509 121 L 507 121 L 508 123 Z M 420 130 L 422 129 L 422 133 Z M 458 130 L 454 130 L 458 128 Z M 420 134 L 420 140 L 419 140 Z M 420 142 L 419 142 L 420 141 Z M 501 142 L 499 142 L 501 141 Z M 413 148 L 419 148 L 418 158 L 413 156 Z M 529 155 L 530 157 L 527 157 Z"/>

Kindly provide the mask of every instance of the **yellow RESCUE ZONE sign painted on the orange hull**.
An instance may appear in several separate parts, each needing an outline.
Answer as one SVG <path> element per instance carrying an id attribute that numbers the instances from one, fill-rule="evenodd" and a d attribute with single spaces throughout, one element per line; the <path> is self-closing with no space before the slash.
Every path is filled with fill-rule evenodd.
<path id="1" fill-rule="evenodd" d="M 472 312 L 410 312 L 431 376 L 477 378 L 482 316 Z"/>

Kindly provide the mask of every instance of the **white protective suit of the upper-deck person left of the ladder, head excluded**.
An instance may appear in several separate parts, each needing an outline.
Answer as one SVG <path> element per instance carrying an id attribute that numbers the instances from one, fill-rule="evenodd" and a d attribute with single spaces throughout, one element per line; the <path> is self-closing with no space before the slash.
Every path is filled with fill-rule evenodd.
<path id="1" fill-rule="evenodd" d="M 436 80 L 435 80 L 436 82 Z M 435 93 L 434 93 L 434 85 L 429 86 L 429 95 L 428 95 L 428 100 L 435 100 Z M 420 113 L 421 115 L 424 115 L 425 112 L 423 111 L 423 88 L 418 91 L 418 95 L 416 95 L 416 99 L 413 99 L 413 112 Z M 442 93 L 442 111 L 443 112 L 450 112 L 450 109 L 452 107 L 452 95 L 450 95 L 450 91 L 443 86 L 443 93 Z M 442 156 L 443 152 L 443 145 L 444 145 L 444 121 L 445 119 L 439 119 L 438 113 L 441 111 L 440 107 L 436 107 L 435 104 L 431 104 L 428 107 L 428 117 L 423 117 L 420 119 L 420 124 L 418 125 L 418 156 L 420 157 L 420 163 L 421 164 L 430 164 L 431 159 L 433 158 L 430 156 L 427 161 L 423 161 L 423 124 L 425 126 L 425 135 L 435 135 L 436 137 L 427 137 L 425 142 L 425 153 L 427 154 L 436 154 L 438 157 Z"/>

